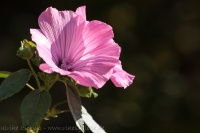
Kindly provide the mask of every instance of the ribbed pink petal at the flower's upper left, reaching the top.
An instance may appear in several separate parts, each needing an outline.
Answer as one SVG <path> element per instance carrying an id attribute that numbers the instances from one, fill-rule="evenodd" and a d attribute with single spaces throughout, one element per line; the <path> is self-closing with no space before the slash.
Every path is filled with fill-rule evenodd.
<path id="1" fill-rule="evenodd" d="M 63 29 L 75 16 L 77 15 L 73 11 L 58 11 L 52 7 L 47 8 L 39 16 L 39 26 L 46 38 L 53 44 L 52 49 L 58 58 L 63 58 L 65 55 L 63 44 L 67 38 Z"/>

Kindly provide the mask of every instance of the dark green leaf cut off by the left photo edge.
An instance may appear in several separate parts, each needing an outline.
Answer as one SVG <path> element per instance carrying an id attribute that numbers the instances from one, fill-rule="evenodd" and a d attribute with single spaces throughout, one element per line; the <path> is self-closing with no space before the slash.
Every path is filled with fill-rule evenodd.
<path id="1" fill-rule="evenodd" d="M 6 77 L 6 73 L 2 77 Z M 10 74 L 0 85 L 0 101 L 13 96 L 24 88 L 31 77 L 31 72 L 26 69 L 18 70 Z"/>

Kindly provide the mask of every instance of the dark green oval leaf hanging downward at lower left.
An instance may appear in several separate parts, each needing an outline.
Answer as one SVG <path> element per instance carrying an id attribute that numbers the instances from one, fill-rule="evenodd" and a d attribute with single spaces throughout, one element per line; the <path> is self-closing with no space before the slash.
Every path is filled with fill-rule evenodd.
<path id="1" fill-rule="evenodd" d="M 26 95 L 20 107 L 22 125 L 34 127 L 43 119 L 51 106 L 51 95 L 48 91 L 34 90 Z"/>

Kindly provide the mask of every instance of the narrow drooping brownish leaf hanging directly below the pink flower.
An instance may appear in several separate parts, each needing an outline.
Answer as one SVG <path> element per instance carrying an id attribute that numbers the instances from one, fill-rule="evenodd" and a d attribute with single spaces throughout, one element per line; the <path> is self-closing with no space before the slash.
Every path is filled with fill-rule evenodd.
<path id="1" fill-rule="evenodd" d="M 81 112 L 81 98 L 77 87 L 72 82 L 67 82 L 67 101 L 77 127 L 84 132 L 84 121 Z"/>

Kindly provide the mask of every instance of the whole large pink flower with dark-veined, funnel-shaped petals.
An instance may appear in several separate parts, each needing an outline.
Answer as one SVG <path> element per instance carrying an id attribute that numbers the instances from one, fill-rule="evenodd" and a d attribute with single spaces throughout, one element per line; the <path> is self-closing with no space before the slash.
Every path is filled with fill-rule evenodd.
<path id="1" fill-rule="evenodd" d="M 86 20 L 85 6 L 76 12 L 49 7 L 38 19 L 40 29 L 31 29 L 40 69 L 73 78 L 83 86 L 101 88 L 110 78 L 117 87 L 127 87 L 134 76 L 122 70 L 121 48 L 113 40 L 112 27 Z"/>

